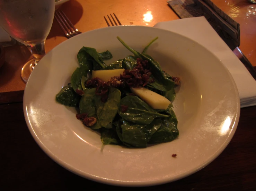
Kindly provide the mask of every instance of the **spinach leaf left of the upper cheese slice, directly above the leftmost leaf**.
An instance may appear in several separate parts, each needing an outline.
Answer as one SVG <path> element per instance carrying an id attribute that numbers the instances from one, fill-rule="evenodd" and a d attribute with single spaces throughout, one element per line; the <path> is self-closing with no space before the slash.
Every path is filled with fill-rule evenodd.
<path id="1" fill-rule="evenodd" d="M 89 69 L 86 65 L 82 65 L 81 67 L 78 67 L 71 76 L 71 86 L 76 91 L 77 89 L 82 90 L 81 86 L 81 79 L 83 76 L 87 76 Z"/>

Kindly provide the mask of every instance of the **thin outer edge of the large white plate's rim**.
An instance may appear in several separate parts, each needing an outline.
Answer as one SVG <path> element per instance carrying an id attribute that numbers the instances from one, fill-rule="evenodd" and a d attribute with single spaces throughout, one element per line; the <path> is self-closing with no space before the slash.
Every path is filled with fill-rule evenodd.
<path id="1" fill-rule="evenodd" d="M 183 172 L 181 174 L 179 174 L 178 176 L 176 176 L 175 178 L 163 178 L 160 180 L 147 180 L 147 181 L 122 181 L 122 180 L 112 180 L 112 179 L 107 179 L 107 178 L 103 178 L 103 177 L 98 177 L 96 175 L 90 174 L 90 173 L 85 173 L 85 172 L 81 172 L 79 169 L 74 169 L 71 168 L 71 165 L 68 163 L 65 163 L 63 160 L 59 159 L 58 157 L 56 157 L 50 150 L 48 150 L 46 147 L 44 147 L 43 143 L 41 142 L 41 140 L 37 137 L 36 133 L 33 130 L 33 127 L 30 125 L 29 123 L 29 119 L 28 119 L 28 115 L 27 115 L 27 110 L 26 110 L 26 104 L 25 104 L 25 98 L 26 98 L 26 91 L 27 91 L 27 84 L 29 83 L 29 79 L 28 82 L 26 84 L 25 90 L 24 90 L 24 98 L 23 98 L 23 111 L 24 111 L 24 116 L 25 116 L 25 120 L 26 120 L 26 124 L 28 126 L 29 132 L 30 134 L 32 134 L 32 137 L 34 138 L 34 140 L 36 141 L 36 143 L 39 145 L 39 147 L 53 160 L 55 161 L 57 164 L 61 165 L 61 167 L 69 170 L 70 172 L 77 174 L 83 178 L 92 180 L 92 181 L 96 181 L 96 182 L 100 182 L 100 183 L 104 183 L 104 184 L 109 184 L 109 185 L 116 185 L 116 186 L 122 186 L 122 187 L 145 187 L 145 186 L 152 186 L 152 185 L 159 185 L 159 184 L 164 184 L 164 183 L 169 183 L 169 182 L 174 182 L 176 180 L 185 178 L 191 174 L 194 174 L 196 172 L 198 172 L 199 170 L 203 169 L 204 167 L 206 167 L 208 164 L 210 164 L 213 160 L 215 160 L 222 152 L 224 149 L 226 149 L 227 145 L 230 143 L 231 139 L 233 138 L 233 135 L 236 132 L 237 129 L 237 125 L 239 122 L 239 118 L 240 118 L 240 98 L 239 98 L 239 93 L 238 93 L 238 89 L 236 86 L 236 83 L 231 75 L 231 73 L 229 72 L 229 70 L 227 69 L 227 67 L 223 64 L 223 62 L 217 57 L 215 56 L 215 54 L 213 52 L 211 52 L 207 47 L 203 46 L 202 44 L 198 43 L 197 41 L 193 40 L 192 38 L 188 38 L 182 34 L 179 34 L 177 32 L 173 32 L 173 31 L 169 31 L 166 29 L 160 29 L 160 28 L 154 28 L 154 27 L 147 27 L 147 26 L 138 26 L 138 25 L 124 25 L 124 26 L 114 26 L 115 28 L 120 28 L 120 27 L 141 27 L 141 28 L 153 28 L 153 30 L 157 29 L 157 30 L 164 30 L 167 31 L 169 33 L 175 33 L 179 36 L 182 36 L 183 38 L 189 39 L 191 41 L 193 41 L 194 43 L 196 43 L 197 45 L 203 47 L 204 49 L 206 49 L 210 54 L 212 54 L 213 57 L 215 57 L 217 60 L 219 60 L 219 62 L 222 64 L 224 70 L 227 71 L 229 78 L 232 81 L 232 87 L 235 89 L 236 92 L 236 117 L 235 120 L 232 124 L 232 131 L 230 132 L 230 134 L 228 135 L 227 139 L 223 142 L 223 145 L 221 148 L 219 148 L 218 152 L 216 153 L 216 155 L 213 158 L 210 158 L 210 160 L 205 161 L 204 164 L 202 164 L 200 167 L 191 170 L 189 173 L 187 172 Z M 89 33 L 89 32 L 94 32 L 97 30 L 103 30 L 105 28 L 108 27 L 104 27 L 104 28 L 99 28 L 99 29 L 94 29 L 94 30 L 90 30 L 84 33 Z M 113 28 L 113 27 L 111 27 Z M 151 30 L 150 29 L 150 30 Z M 78 38 L 77 36 L 72 37 L 72 38 Z M 58 44 L 56 47 L 54 47 L 51 51 L 49 51 L 48 53 L 52 52 L 53 50 L 57 49 L 59 46 L 63 46 L 63 44 L 67 43 L 67 41 L 70 39 L 67 39 L 65 41 L 63 41 L 62 43 Z M 48 54 L 47 53 L 47 54 Z M 31 81 L 31 80 L 30 80 Z"/>

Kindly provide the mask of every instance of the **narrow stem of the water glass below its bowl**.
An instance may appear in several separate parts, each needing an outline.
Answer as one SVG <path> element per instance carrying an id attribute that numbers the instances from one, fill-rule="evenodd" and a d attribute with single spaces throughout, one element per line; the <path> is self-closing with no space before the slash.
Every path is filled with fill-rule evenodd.
<path id="1" fill-rule="evenodd" d="M 37 63 L 43 58 L 45 55 L 45 41 L 33 44 L 33 45 L 27 45 L 29 51 L 31 52 L 32 56 L 34 57 L 34 62 L 31 64 L 31 69 L 33 70 Z"/>

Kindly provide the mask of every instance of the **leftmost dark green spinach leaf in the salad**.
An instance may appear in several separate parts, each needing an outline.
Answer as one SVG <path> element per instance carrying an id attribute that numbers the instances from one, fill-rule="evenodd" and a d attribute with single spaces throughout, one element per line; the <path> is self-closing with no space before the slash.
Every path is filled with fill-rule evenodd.
<path id="1" fill-rule="evenodd" d="M 79 96 L 72 88 L 71 84 L 69 86 L 64 86 L 59 93 L 56 94 L 55 100 L 63 105 L 70 107 L 76 107 L 79 104 L 81 96 Z"/>

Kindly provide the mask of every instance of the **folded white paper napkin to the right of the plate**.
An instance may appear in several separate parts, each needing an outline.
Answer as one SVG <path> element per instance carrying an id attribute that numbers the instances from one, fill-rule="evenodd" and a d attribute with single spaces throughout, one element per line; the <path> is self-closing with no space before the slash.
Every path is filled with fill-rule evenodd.
<path id="1" fill-rule="evenodd" d="M 256 81 L 205 17 L 159 22 L 154 27 L 182 34 L 214 53 L 236 82 L 241 108 L 256 105 Z"/>

